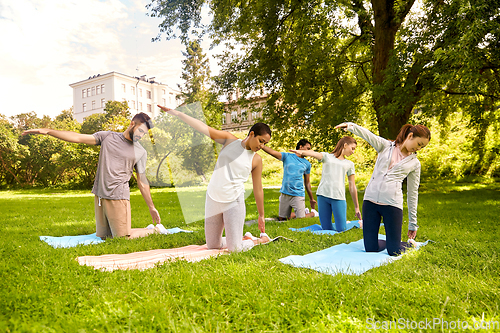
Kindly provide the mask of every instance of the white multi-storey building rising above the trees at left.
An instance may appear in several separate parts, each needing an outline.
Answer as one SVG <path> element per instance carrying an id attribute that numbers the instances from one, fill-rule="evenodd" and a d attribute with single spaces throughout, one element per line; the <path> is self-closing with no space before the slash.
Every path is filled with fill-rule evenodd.
<path id="1" fill-rule="evenodd" d="M 104 112 L 107 101 L 127 101 L 132 115 L 144 112 L 156 117 L 162 105 L 176 108 L 181 101 L 176 97 L 180 91 L 156 82 L 154 77 L 133 77 L 117 72 L 97 74 L 87 80 L 72 83 L 73 113 L 75 119 L 83 122 L 85 117 Z"/>

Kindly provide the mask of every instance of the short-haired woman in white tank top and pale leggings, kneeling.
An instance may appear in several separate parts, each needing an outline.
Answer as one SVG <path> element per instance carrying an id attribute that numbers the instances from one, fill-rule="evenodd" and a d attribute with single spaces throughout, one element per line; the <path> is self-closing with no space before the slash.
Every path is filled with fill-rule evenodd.
<path id="1" fill-rule="evenodd" d="M 248 136 L 240 140 L 226 131 L 207 126 L 177 110 L 158 105 L 160 109 L 178 117 L 180 120 L 223 145 L 217 159 L 214 173 L 207 188 L 205 201 L 205 239 L 209 249 L 226 248 L 233 251 L 248 250 L 254 244 L 268 242 L 265 234 L 264 190 L 262 188 L 262 158 L 256 152 L 271 140 L 271 130 L 263 123 L 252 126 Z M 245 223 L 245 188 L 252 174 L 253 192 L 261 237 L 243 240 Z M 222 237 L 225 229 L 226 237 Z"/>

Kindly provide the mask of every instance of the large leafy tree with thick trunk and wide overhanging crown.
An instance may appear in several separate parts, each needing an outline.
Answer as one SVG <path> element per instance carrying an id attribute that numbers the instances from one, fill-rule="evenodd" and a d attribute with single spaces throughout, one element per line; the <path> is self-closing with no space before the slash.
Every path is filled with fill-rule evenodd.
<path id="1" fill-rule="evenodd" d="M 213 13 L 207 27 L 203 5 Z M 395 138 L 415 109 L 427 111 L 420 102 L 429 95 L 500 97 L 492 89 L 499 0 L 153 0 L 148 8 L 164 19 L 156 39 L 206 28 L 230 45 L 219 86 L 262 84 L 278 129 L 321 126 L 326 135 L 368 109 L 379 133 Z"/>

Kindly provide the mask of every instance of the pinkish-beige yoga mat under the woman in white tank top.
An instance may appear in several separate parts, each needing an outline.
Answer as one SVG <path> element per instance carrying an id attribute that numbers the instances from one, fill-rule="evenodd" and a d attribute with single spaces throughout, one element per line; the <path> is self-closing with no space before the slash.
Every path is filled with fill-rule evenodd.
<path id="1" fill-rule="evenodd" d="M 83 256 L 76 258 L 82 266 L 112 272 L 114 270 L 153 268 L 169 260 L 187 260 L 196 262 L 206 258 L 228 253 L 227 249 L 209 250 L 207 245 L 188 245 L 174 249 L 160 249 L 127 254 L 106 254 L 101 256 Z"/>

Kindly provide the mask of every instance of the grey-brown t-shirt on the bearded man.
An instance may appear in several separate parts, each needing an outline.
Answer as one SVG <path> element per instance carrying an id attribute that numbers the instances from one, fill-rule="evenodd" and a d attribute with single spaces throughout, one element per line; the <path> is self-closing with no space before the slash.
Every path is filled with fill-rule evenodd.
<path id="1" fill-rule="evenodd" d="M 134 166 L 138 173 L 146 172 L 146 150 L 138 142 L 125 139 L 123 133 L 103 131 L 93 135 L 101 151 L 92 193 L 103 199 L 130 200 L 128 181 Z"/>

